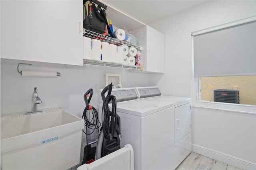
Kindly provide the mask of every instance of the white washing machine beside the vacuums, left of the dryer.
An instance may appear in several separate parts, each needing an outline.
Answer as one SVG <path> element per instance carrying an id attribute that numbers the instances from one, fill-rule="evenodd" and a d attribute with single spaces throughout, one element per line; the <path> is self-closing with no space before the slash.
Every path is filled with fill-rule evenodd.
<path id="1" fill-rule="evenodd" d="M 98 91 L 101 121 L 102 90 Z M 135 88 L 112 89 L 121 119 L 121 147 L 134 148 L 135 170 L 166 170 L 173 164 L 173 117 L 169 103 L 137 99 Z"/>

